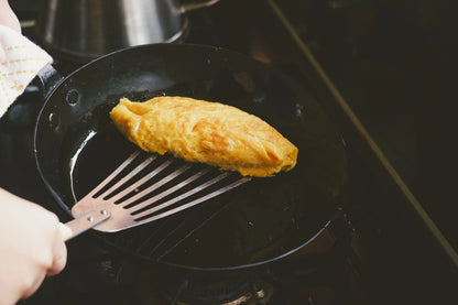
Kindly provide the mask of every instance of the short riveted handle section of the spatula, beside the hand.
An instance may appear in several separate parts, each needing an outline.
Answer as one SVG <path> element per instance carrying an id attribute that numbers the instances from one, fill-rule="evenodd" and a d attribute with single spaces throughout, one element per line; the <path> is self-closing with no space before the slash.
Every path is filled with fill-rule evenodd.
<path id="1" fill-rule="evenodd" d="M 66 224 L 59 224 L 62 239 L 67 241 L 110 218 L 106 210 L 92 210 L 81 217 L 75 218 Z"/>

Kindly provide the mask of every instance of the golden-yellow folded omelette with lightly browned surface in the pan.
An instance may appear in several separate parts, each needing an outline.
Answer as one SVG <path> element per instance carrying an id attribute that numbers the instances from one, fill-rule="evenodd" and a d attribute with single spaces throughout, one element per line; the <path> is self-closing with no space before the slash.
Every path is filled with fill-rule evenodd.
<path id="1" fill-rule="evenodd" d="M 187 97 L 127 98 L 111 110 L 118 129 L 142 150 L 170 152 L 242 175 L 290 171 L 297 148 L 270 124 L 236 107 Z"/>

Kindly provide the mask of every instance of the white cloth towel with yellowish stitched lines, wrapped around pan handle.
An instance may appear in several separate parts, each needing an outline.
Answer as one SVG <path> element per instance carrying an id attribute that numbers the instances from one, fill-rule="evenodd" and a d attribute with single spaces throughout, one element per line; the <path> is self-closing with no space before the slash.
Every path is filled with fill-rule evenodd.
<path id="1" fill-rule="evenodd" d="M 0 118 L 53 58 L 14 30 L 0 25 Z"/>

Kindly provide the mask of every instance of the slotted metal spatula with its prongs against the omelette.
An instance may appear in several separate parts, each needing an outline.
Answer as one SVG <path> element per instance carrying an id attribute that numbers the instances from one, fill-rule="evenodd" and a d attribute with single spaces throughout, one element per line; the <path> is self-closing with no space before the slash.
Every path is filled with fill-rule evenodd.
<path id="1" fill-rule="evenodd" d="M 64 240 L 91 228 L 115 232 L 157 220 L 250 179 L 173 156 L 142 155 L 132 153 L 72 208 L 75 219 L 61 224 Z"/>

